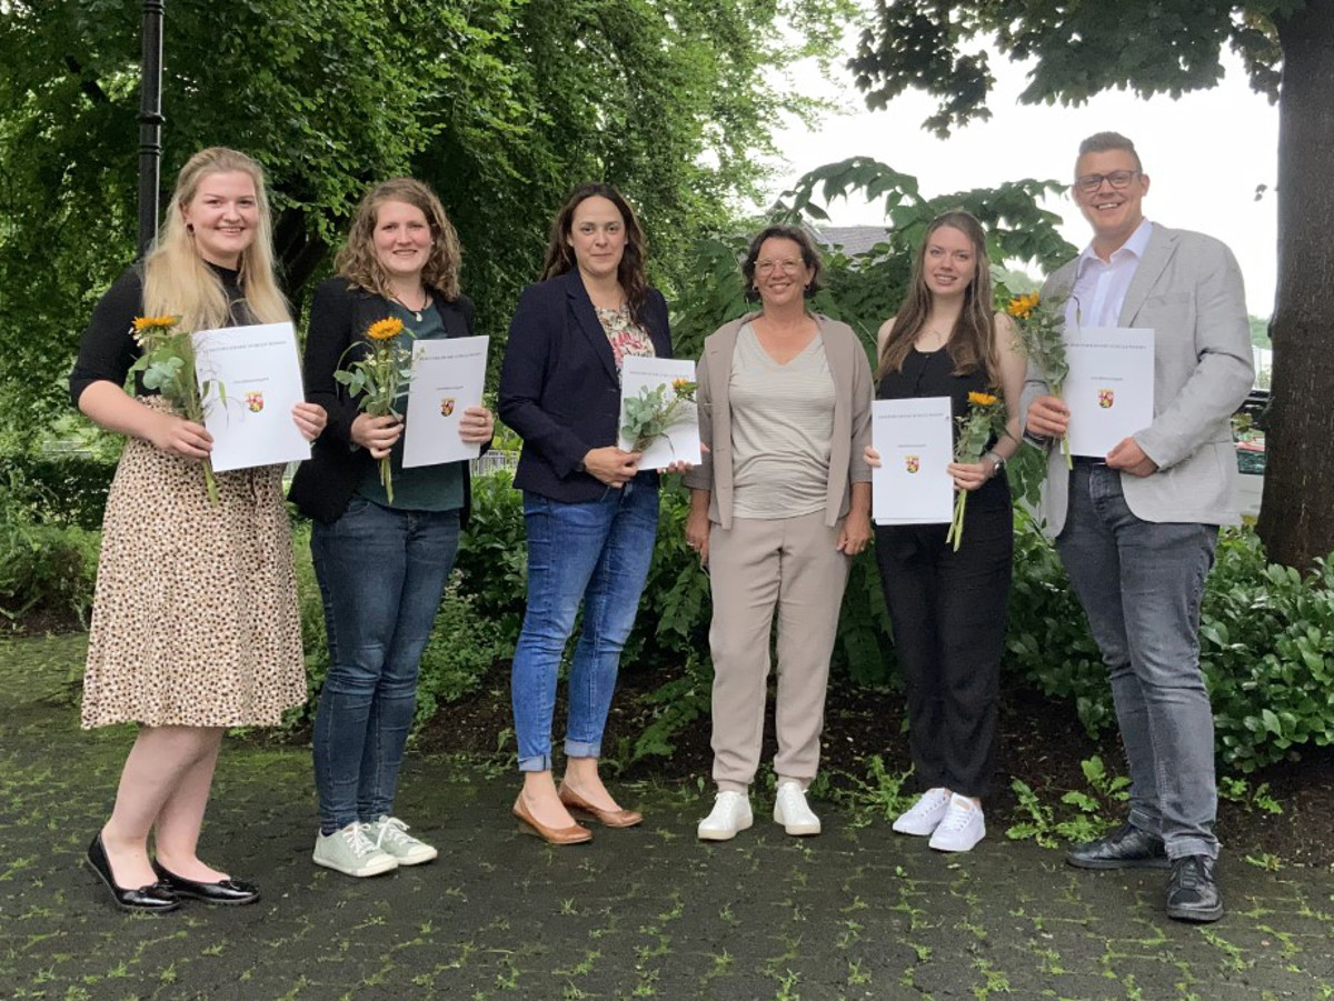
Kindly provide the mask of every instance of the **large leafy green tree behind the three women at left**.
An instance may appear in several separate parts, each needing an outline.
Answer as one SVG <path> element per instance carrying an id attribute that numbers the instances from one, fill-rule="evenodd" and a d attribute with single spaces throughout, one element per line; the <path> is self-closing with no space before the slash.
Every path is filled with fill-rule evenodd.
<path id="1" fill-rule="evenodd" d="M 0 431 L 67 412 L 96 296 L 135 255 L 139 0 L 0 1 Z M 780 117 L 771 67 L 834 51 L 848 0 L 168 3 L 169 184 L 204 145 L 267 168 L 288 293 L 327 273 L 368 184 L 431 181 L 464 288 L 503 337 L 578 181 L 642 209 L 656 277 L 754 193 Z M 784 28 L 806 39 L 784 41 Z M 492 352 L 499 355 L 499 352 Z"/>

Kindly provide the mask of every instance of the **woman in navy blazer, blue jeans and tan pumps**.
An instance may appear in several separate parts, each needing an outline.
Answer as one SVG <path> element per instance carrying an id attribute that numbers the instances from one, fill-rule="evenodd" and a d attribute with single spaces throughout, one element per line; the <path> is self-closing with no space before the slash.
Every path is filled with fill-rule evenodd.
<path id="1" fill-rule="evenodd" d="M 622 809 L 598 776 L 620 650 L 658 532 L 658 473 L 616 447 L 620 363 L 671 357 L 667 304 L 644 275 L 644 236 L 610 185 L 586 184 L 551 228 L 542 281 L 519 297 L 500 376 L 500 419 L 523 439 L 515 487 L 528 534 L 528 608 L 512 701 L 523 792 L 514 813 L 551 844 L 590 840 L 571 809 L 607 826 Z M 556 672 L 583 604 L 570 669 L 566 774 L 551 774 Z"/>

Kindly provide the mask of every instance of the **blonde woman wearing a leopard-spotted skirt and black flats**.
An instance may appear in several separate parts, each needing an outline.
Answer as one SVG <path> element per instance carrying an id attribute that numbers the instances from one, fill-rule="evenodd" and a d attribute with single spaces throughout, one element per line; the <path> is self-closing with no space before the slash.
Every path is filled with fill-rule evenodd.
<path id="1" fill-rule="evenodd" d="M 79 409 L 127 436 L 103 522 L 83 725 L 140 724 L 88 860 L 123 908 L 248 904 L 255 886 L 200 861 L 196 842 L 225 728 L 277 724 L 305 700 L 281 467 L 219 473 L 209 502 L 204 427 L 143 385 L 121 388 L 140 316 L 179 316 L 187 331 L 289 319 L 257 163 L 223 148 L 191 157 L 152 252 L 103 296 L 69 376 Z M 303 403 L 292 420 L 313 439 L 325 416 Z"/>

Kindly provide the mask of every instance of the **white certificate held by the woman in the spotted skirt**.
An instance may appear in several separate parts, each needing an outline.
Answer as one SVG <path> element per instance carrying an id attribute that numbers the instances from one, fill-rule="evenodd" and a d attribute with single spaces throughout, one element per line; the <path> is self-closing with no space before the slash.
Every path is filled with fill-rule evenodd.
<path id="1" fill-rule="evenodd" d="M 305 399 L 292 324 L 199 331 L 192 340 L 213 471 L 309 459 L 311 445 L 292 421 L 292 408 Z"/>

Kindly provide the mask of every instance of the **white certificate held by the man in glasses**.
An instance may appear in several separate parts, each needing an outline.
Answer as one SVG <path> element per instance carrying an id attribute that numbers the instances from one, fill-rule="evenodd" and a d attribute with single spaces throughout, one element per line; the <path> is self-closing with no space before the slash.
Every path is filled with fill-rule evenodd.
<path id="1" fill-rule="evenodd" d="M 1066 331 L 1070 453 L 1102 459 L 1154 421 L 1154 332 L 1133 327 Z"/>

